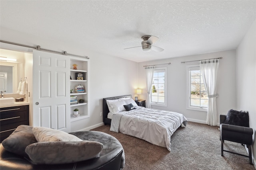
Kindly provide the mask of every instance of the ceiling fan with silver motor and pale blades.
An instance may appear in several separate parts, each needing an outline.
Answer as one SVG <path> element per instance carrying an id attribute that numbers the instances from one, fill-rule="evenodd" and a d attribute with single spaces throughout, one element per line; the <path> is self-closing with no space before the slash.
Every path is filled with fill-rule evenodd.
<path id="1" fill-rule="evenodd" d="M 155 43 L 158 40 L 158 37 L 153 35 L 145 35 L 141 37 L 141 39 L 143 41 L 141 42 L 141 46 L 138 46 L 138 47 L 142 47 L 143 51 L 151 51 L 151 50 L 157 51 L 157 52 L 164 51 L 164 49 L 153 45 L 153 43 Z M 132 49 L 132 48 L 137 48 L 137 47 L 130 47 L 126 49 Z"/>

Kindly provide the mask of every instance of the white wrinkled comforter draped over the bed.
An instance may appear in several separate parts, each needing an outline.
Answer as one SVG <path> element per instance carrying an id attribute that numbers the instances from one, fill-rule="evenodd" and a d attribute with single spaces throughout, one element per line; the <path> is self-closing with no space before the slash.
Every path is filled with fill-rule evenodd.
<path id="1" fill-rule="evenodd" d="M 182 123 L 186 126 L 187 122 L 180 113 L 138 106 L 137 109 L 113 115 L 110 131 L 138 137 L 171 151 L 172 134 Z"/>

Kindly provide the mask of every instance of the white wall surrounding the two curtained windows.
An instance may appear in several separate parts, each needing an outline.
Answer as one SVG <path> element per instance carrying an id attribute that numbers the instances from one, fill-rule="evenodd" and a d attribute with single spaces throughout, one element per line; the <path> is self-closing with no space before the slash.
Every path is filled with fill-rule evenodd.
<path id="1" fill-rule="evenodd" d="M 140 95 L 140 98 L 146 99 L 146 94 L 144 93 L 146 92 L 146 79 L 143 66 L 171 63 L 170 65 L 156 66 L 167 67 L 167 107 L 152 106 L 152 108 L 176 111 L 184 114 L 189 121 L 206 123 L 207 112 L 186 109 L 188 100 L 186 65 L 198 64 L 198 62 L 181 63 L 181 61 L 194 61 L 217 57 L 223 57 L 223 59 L 220 59 L 218 70 L 217 92 L 219 97 L 216 98 L 219 123 L 220 114 L 225 114 L 229 109 L 234 109 L 236 107 L 236 50 L 141 62 L 138 65 L 138 77 L 139 88 L 142 89 L 143 95 Z"/>

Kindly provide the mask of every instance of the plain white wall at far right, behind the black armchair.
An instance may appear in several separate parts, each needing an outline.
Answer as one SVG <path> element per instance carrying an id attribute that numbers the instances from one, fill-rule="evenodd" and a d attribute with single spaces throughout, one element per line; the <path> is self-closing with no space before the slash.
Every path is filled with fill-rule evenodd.
<path id="1" fill-rule="evenodd" d="M 237 48 L 237 109 L 249 112 L 250 127 L 254 129 L 252 155 L 256 167 L 256 20 Z"/>

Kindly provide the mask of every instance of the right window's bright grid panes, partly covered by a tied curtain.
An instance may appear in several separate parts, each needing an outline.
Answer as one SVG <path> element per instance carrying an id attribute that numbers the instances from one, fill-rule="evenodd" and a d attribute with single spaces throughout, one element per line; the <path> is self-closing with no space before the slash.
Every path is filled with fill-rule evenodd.
<path id="1" fill-rule="evenodd" d="M 208 107 L 208 95 L 204 88 L 204 82 L 200 67 L 188 66 L 189 79 L 189 109 L 206 110 Z"/>

